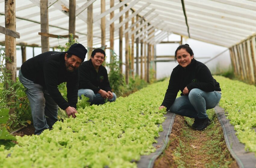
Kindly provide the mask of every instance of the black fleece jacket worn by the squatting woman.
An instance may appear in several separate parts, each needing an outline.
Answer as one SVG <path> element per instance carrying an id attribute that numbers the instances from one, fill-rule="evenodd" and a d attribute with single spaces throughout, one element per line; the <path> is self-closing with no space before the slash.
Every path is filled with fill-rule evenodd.
<path id="1" fill-rule="evenodd" d="M 165 106 L 167 107 L 166 110 L 169 110 L 179 90 L 183 92 L 185 87 L 187 87 L 189 91 L 193 88 L 207 92 L 221 91 L 220 84 L 212 77 L 208 67 L 192 59 L 191 63 L 186 68 L 177 65 L 173 69 L 161 106 Z M 181 96 L 184 96 L 183 93 L 181 93 Z"/>

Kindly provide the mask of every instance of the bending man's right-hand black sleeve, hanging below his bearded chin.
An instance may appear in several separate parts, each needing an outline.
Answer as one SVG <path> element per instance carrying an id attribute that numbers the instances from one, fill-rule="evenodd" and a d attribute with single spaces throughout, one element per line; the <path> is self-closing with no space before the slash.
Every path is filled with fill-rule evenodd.
<path id="1" fill-rule="evenodd" d="M 71 80 L 67 81 L 67 101 L 70 107 L 76 109 L 77 97 L 78 97 L 78 81 L 79 81 L 79 71 L 76 71 L 76 75 L 73 76 Z"/>

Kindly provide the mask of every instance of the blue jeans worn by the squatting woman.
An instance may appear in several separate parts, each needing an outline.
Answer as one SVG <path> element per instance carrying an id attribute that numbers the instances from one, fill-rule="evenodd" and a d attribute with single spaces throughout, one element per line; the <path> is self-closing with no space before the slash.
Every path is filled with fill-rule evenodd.
<path id="1" fill-rule="evenodd" d="M 206 92 L 194 88 L 189 92 L 189 96 L 176 98 L 170 111 L 181 116 L 190 118 L 207 118 L 206 110 L 212 109 L 220 102 L 221 93 L 217 91 Z"/>

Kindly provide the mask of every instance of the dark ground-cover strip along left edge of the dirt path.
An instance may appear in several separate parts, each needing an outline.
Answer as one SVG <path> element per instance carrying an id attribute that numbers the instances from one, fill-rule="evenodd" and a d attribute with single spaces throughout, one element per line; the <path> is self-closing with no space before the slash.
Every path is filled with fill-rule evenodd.
<path id="1" fill-rule="evenodd" d="M 167 146 L 176 114 L 168 111 L 167 114 L 165 114 L 164 116 L 166 117 L 165 121 L 162 123 L 164 131 L 159 132 L 160 136 L 156 138 L 157 143 L 153 144 L 155 148 L 157 146 L 159 148 L 156 149 L 156 151 L 151 153 L 150 155 L 142 155 L 141 159 L 137 162 L 138 168 L 154 167 L 155 160 L 158 158 L 159 155 L 161 155 L 161 153 L 164 151 L 165 147 Z"/>

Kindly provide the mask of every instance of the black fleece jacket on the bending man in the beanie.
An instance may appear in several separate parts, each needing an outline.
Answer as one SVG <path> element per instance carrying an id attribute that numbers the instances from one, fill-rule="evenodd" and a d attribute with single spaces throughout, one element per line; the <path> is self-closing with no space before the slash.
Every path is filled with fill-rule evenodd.
<path id="1" fill-rule="evenodd" d="M 65 65 L 65 52 L 48 51 L 28 59 L 21 65 L 23 76 L 42 85 L 58 106 L 76 108 L 79 71 L 68 72 Z M 67 82 L 67 100 L 62 97 L 58 85 Z"/>

